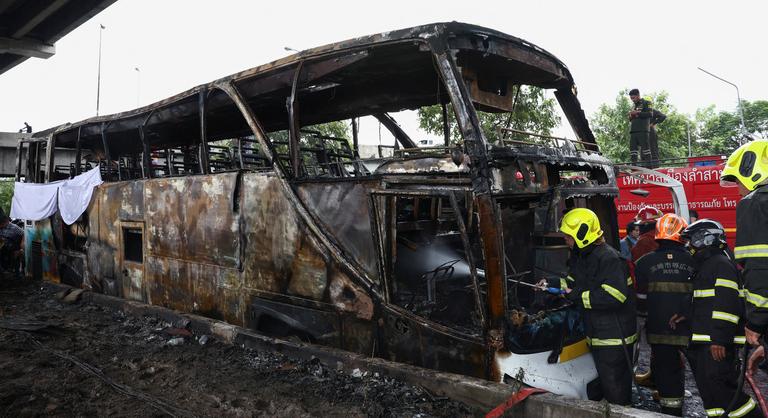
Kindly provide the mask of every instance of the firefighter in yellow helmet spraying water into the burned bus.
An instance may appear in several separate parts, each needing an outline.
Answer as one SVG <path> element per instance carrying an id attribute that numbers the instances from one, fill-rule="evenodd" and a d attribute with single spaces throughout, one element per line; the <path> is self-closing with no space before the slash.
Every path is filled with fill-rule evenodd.
<path id="1" fill-rule="evenodd" d="M 566 290 L 567 297 L 582 308 L 603 396 L 610 403 L 630 405 L 637 319 L 627 264 L 605 243 L 600 221 L 589 209 L 566 213 L 560 231 L 571 248 L 573 288 Z"/>

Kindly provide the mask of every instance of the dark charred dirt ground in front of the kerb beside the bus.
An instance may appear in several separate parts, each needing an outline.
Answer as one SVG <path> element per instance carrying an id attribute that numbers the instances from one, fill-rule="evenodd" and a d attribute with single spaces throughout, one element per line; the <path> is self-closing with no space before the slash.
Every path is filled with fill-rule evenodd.
<path id="1" fill-rule="evenodd" d="M 392 379 L 225 345 L 191 335 L 183 324 L 68 304 L 46 284 L 0 282 L 0 416 L 455 417 L 477 412 Z"/>

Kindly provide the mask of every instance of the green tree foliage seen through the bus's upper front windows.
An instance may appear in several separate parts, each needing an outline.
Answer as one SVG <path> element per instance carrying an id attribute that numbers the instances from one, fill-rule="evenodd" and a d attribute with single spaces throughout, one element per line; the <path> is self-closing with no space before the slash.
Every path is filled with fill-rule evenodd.
<path id="1" fill-rule="evenodd" d="M 489 113 L 478 111 L 480 126 L 485 137 L 491 142 L 498 141 L 500 128 L 513 128 L 521 131 L 548 135 L 552 128 L 560 124 L 560 117 L 555 113 L 555 100 L 544 95 L 544 89 L 532 86 L 518 86 L 514 89 L 514 110 L 512 112 Z M 443 114 L 440 105 L 422 107 L 418 111 L 419 127 L 433 135 L 443 135 Z M 461 131 L 456 124 L 452 111 L 448 112 L 451 128 L 451 140 L 461 140 Z"/>

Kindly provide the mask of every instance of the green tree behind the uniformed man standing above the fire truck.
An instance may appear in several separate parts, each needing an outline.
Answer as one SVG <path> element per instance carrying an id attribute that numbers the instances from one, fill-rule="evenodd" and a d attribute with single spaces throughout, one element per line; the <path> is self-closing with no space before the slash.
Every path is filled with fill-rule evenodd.
<path id="1" fill-rule="evenodd" d="M 677 111 L 665 91 L 652 93 L 648 99 L 653 107 L 667 116 L 656 126 L 659 157 L 680 158 L 688 155 L 688 130 L 695 128 L 690 117 Z M 632 109 L 627 90 L 616 96 L 612 105 L 602 104 L 590 118 L 590 125 L 603 154 L 615 162 L 629 161 L 629 119 Z"/>

